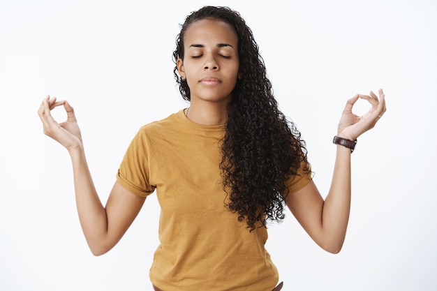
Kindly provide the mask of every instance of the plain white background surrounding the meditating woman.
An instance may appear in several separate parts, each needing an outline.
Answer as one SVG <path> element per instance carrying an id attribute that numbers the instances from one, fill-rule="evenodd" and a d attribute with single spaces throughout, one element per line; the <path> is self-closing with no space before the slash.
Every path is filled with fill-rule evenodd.
<path id="1" fill-rule="evenodd" d="M 103 202 L 142 124 L 188 105 L 172 76 L 185 16 L 206 4 L 252 28 L 281 110 L 327 193 L 346 100 L 383 87 L 387 112 L 353 153 L 343 250 L 331 255 L 288 215 L 267 248 L 283 290 L 437 290 L 436 1 L 0 0 L 0 290 L 150 290 L 155 195 L 110 253 L 91 255 L 71 162 L 43 135 L 46 94 L 75 107 Z M 357 112 L 367 105 L 361 102 Z M 56 110 L 57 119 L 64 119 Z"/>

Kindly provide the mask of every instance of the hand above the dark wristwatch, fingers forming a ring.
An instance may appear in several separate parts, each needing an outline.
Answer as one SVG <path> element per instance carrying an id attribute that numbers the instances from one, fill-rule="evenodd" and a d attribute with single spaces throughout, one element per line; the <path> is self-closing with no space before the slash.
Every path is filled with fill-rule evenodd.
<path id="1" fill-rule="evenodd" d="M 356 140 L 362 133 L 365 133 L 375 126 L 376 122 L 383 117 L 385 112 L 385 95 L 383 89 L 379 89 L 378 94 L 379 98 L 370 91 L 370 96 L 357 94 L 348 100 L 339 121 L 337 136 L 347 138 L 348 140 Z M 352 112 L 353 105 L 358 99 L 367 100 L 371 104 L 371 109 L 362 116 L 357 116 Z"/>

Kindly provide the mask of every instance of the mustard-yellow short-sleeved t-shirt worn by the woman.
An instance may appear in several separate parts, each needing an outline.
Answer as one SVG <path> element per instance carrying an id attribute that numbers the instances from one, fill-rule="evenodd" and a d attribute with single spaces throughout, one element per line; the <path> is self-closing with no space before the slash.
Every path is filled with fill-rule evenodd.
<path id="1" fill-rule="evenodd" d="M 161 206 L 151 282 L 163 290 L 272 290 L 278 272 L 265 250 L 267 230 L 253 232 L 226 207 L 220 141 L 225 126 L 202 126 L 183 110 L 143 126 L 119 167 L 117 180 Z M 302 173 L 301 173 L 302 174 Z M 306 174 L 287 181 L 290 193 Z"/>

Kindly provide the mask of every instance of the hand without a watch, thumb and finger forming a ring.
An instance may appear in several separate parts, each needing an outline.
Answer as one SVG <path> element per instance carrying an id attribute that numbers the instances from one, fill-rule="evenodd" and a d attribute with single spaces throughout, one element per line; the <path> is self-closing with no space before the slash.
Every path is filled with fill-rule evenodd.
<path id="1" fill-rule="evenodd" d="M 67 120 L 59 124 L 50 111 L 55 107 L 64 105 L 64 109 L 67 113 Z M 43 131 L 45 135 L 52 137 L 60 144 L 62 144 L 68 151 L 75 149 L 82 149 L 82 136 L 80 135 L 80 128 L 77 125 L 75 113 L 73 107 L 66 101 L 57 101 L 57 98 L 50 98 L 46 96 L 40 105 L 38 115 L 43 121 Z"/>

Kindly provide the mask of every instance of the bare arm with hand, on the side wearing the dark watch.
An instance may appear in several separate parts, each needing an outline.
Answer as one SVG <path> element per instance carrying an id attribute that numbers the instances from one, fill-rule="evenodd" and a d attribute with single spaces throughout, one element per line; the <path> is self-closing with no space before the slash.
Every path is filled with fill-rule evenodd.
<path id="1" fill-rule="evenodd" d="M 380 98 L 371 92 L 370 96 L 357 95 L 346 103 L 339 122 L 337 135 L 355 140 L 362 133 L 373 128 L 385 112 L 385 96 Z M 352 107 L 359 98 L 368 100 L 372 107 L 362 117 L 352 113 Z M 290 193 L 286 204 L 304 227 L 310 237 L 326 251 L 338 253 L 346 237 L 350 213 L 350 149 L 336 146 L 336 160 L 332 183 L 325 200 L 313 181 L 301 190 Z"/>

